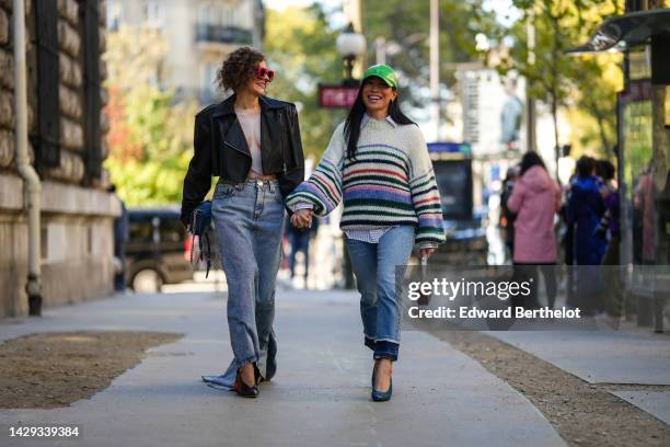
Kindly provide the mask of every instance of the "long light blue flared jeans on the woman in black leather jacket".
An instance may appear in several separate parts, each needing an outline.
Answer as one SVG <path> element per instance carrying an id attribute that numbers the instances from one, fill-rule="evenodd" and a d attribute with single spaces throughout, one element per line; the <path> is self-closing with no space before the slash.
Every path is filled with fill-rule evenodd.
<path id="1" fill-rule="evenodd" d="M 255 363 L 269 380 L 277 369 L 273 321 L 285 214 L 279 184 L 219 182 L 211 209 L 228 282 L 228 326 L 234 354 L 217 383 L 232 386 L 238 368 L 247 363 Z"/>

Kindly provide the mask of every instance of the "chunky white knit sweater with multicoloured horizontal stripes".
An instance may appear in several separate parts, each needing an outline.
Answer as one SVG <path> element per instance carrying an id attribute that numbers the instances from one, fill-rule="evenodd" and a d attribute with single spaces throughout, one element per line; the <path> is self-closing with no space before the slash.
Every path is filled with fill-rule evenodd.
<path id="1" fill-rule="evenodd" d="M 355 159 L 346 157 L 344 123 L 310 179 L 287 197 L 287 206 L 313 205 L 317 216 L 342 200 L 343 230 L 417 227 L 416 242 L 444 241 L 440 195 L 418 126 L 369 119 L 361 128 Z"/>

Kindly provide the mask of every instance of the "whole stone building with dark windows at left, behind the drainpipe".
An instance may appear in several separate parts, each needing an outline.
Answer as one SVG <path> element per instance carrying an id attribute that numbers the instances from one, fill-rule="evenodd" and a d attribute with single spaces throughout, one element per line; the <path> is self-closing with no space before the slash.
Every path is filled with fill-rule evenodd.
<path id="1" fill-rule="evenodd" d="M 102 87 L 105 2 L 25 0 L 28 140 L 42 180 L 44 306 L 113 291 L 114 218 Z M 0 0 L 0 317 L 27 313 L 27 213 L 14 148 L 12 0 Z"/>

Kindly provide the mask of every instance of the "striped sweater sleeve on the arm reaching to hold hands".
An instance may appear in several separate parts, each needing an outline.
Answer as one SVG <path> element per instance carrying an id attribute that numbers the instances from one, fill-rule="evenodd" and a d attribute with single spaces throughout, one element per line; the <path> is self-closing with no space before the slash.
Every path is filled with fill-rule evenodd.
<path id="1" fill-rule="evenodd" d="M 286 198 L 287 207 L 296 209 L 299 203 L 312 204 L 317 216 L 325 216 L 337 207 L 342 200 L 345 146 L 344 124 L 340 124 L 310 179 Z"/>

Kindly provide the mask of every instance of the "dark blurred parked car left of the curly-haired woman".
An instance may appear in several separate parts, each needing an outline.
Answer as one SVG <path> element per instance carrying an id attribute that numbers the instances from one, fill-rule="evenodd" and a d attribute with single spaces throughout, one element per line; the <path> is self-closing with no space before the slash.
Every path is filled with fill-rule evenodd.
<path id="1" fill-rule="evenodd" d="M 128 210 L 126 284 L 135 291 L 155 293 L 163 284 L 193 278 L 189 239 L 178 208 Z"/>

